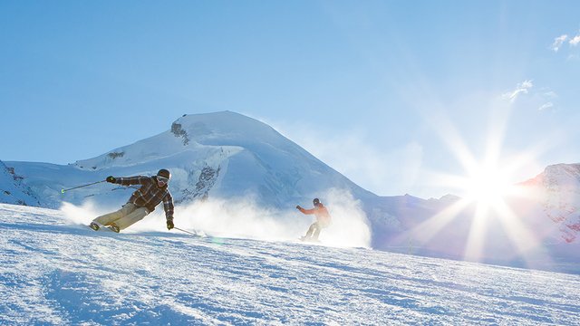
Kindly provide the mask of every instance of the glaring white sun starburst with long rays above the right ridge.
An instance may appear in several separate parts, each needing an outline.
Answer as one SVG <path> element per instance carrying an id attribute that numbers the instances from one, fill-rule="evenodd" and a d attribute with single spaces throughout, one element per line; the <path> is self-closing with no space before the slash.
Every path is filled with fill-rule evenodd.
<path id="1" fill-rule="evenodd" d="M 508 111 L 510 108 L 504 109 Z M 466 233 L 464 244 L 454 244 L 453 250 L 463 254 L 467 260 L 485 261 L 489 257 L 519 254 L 525 264 L 533 265 L 534 261 L 527 252 L 538 245 L 540 239 L 528 229 L 527 216 L 520 215 L 518 203 L 530 194 L 525 187 L 517 186 L 517 182 L 522 181 L 518 179 L 522 169 L 536 164 L 536 155 L 542 148 L 517 152 L 506 150 L 504 135 L 508 114 L 494 112 L 497 114 L 491 114 L 489 133 L 482 139 L 483 146 L 477 148 L 469 146 L 467 138 L 462 137 L 445 114 L 430 114 L 426 118 L 433 120 L 433 126 L 440 131 L 441 139 L 447 143 L 459 166 L 456 173 L 434 172 L 431 180 L 433 184 L 453 188 L 459 199 L 413 227 L 409 234 L 420 239 L 420 244 L 444 246 L 446 240 L 438 235 Z M 498 241 L 503 241 L 502 236 L 506 236 L 510 247 L 494 245 L 499 234 Z M 544 258 L 549 260 L 549 256 Z"/>

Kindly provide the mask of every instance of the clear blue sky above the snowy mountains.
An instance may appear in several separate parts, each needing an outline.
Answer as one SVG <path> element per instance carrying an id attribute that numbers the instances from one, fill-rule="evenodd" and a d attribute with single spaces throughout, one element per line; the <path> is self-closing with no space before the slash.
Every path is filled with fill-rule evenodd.
<path id="1" fill-rule="evenodd" d="M 577 1 L 3 1 L 0 159 L 263 120 L 378 195 L 580 162 Z M 471 162 L 471 163 L 469 163 Z M 500 169 L 500 168 L 496 168 Z"/>

